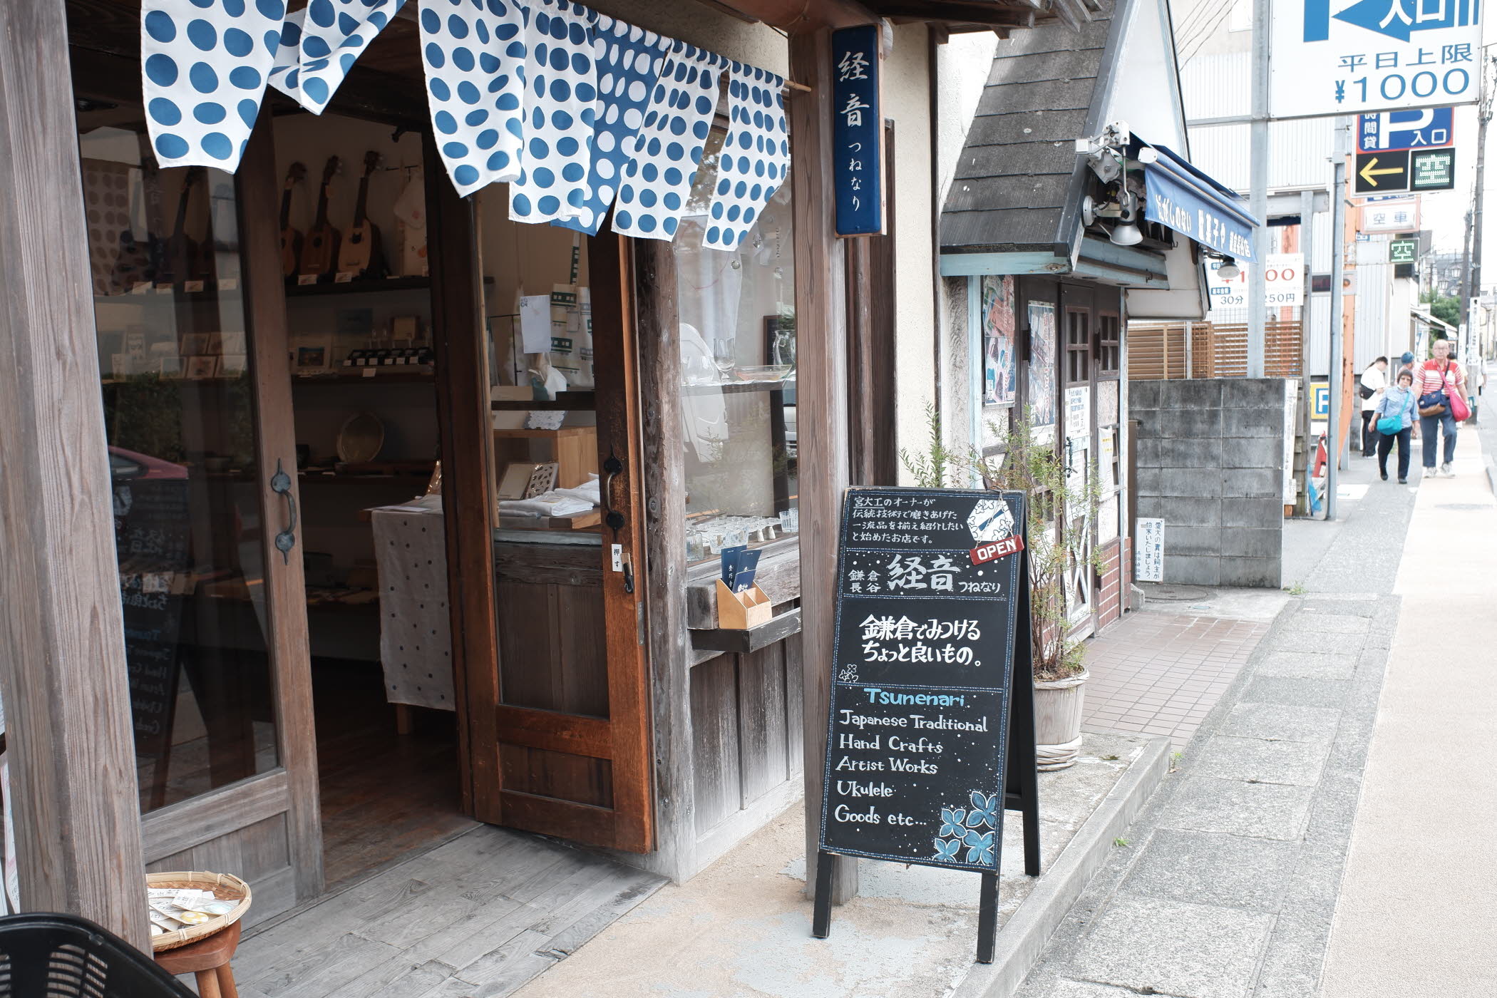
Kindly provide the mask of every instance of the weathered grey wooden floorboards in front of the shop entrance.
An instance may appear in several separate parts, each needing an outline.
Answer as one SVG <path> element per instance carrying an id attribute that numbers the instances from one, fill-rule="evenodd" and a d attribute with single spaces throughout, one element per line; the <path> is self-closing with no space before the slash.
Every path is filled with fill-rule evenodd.
<path id="1" fill-rule="evenodd" d="M 479 826 L 254 932 L 234 976 L 243 998 L 501 998 L 665 883 Z"/>

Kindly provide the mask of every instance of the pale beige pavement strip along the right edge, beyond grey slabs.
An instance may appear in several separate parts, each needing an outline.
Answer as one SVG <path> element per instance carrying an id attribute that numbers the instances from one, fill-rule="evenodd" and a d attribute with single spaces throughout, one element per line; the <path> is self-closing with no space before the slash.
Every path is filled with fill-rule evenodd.
<path id="1" fill-rule="evenodd" d="M 1497 995 L 1497 504 L 1470 429 L 1455 473 L 1409 525 L 1326 998 Z"/>

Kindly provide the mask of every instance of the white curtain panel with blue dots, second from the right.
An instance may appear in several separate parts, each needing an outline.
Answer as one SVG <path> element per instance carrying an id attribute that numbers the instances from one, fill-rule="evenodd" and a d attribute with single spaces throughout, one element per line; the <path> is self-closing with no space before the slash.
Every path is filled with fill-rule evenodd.
<path id="1" fill-rule="evenodd" d="M 713 127 L 728 60 L 677 42 L 666 55 L 614 205 L 614 232 L 671 239 Z"/>

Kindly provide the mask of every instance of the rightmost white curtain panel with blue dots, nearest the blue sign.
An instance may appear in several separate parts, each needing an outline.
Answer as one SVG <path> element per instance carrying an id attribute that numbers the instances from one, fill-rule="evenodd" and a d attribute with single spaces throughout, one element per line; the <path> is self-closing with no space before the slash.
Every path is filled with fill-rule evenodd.
<path id="1" fill-rule="evenodd" d="M 717 160 L 717 186 L 702 245 L 737 250 L 790 165 L 784 79 L 734 63 L 728 73 L 728 138 Z"/>

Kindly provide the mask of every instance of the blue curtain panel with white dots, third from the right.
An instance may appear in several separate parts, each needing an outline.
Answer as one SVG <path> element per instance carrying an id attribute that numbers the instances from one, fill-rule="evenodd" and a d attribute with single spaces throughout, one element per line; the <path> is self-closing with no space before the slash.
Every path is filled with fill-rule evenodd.
<path id="1" fill-rule="evenodd" d="M 593 39 L 599 108 L 587 198 L 578 218 L 552 224 L 597 235 L 597 227 L 614 205 L 618 181 L 629 165 L 629 151 L 645 121 L 650 93 L 660 79 L 660 66 L 671 45 L 671 39 L 654 31 L 599 15 Z"/>

